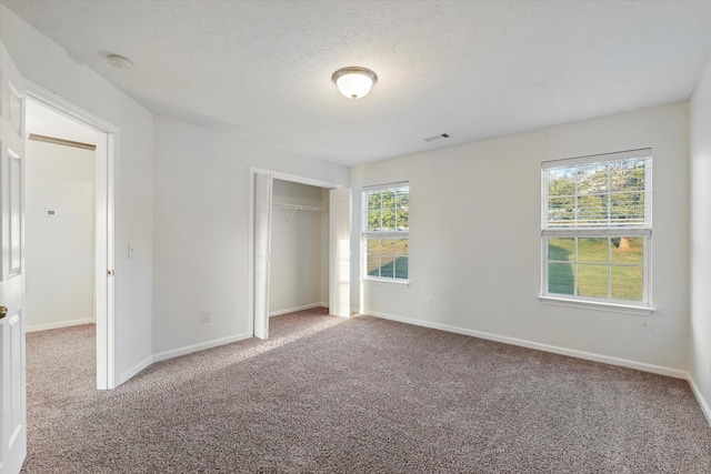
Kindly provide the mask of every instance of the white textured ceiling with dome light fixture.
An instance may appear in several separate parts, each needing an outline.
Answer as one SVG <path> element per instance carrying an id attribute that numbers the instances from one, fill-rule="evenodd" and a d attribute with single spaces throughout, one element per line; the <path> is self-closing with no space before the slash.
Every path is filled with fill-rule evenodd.
<path id="1" fill-rule="evenodd" d="M 711 1 L 1 1 L 158 114 L 348 165 L 685 100 L 711 59 Z"/>

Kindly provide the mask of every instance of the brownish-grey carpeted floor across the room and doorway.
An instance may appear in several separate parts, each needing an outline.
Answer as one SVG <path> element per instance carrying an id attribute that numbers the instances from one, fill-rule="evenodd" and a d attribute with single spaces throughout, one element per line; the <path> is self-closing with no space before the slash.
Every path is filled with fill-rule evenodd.
<path id="1" fill-rule="evenodd" d="M 93 331 L 28 334 L 23 472 L 711 472 L 684 381 L 314 310 L 98 392 Z"/>

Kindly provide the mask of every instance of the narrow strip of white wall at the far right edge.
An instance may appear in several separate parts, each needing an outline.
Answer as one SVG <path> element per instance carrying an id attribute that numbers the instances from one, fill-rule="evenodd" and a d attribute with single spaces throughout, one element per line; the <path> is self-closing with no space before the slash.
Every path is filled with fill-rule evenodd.
<path id="1" fill-rule="evenodd" d="M 711 63 L 691 98 L 689 375 L 711 423 Z"/>

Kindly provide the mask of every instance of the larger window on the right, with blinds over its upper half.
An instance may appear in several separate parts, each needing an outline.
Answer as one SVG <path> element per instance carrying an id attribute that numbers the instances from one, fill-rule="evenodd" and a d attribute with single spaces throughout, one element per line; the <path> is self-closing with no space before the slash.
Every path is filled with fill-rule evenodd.
<path id="1" fill-rule="evenodd" d="M 650 307 L 652 151 L 543 162 L 542 297 Z"/>

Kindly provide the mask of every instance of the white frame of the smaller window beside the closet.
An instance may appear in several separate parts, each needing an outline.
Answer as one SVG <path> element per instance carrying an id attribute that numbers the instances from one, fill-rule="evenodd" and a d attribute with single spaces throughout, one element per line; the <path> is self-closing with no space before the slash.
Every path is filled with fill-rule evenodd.
<path id="1" fill-rule="evenodd" d="M 389 285 L 397 286 L 407 286 L 410 284 L 410 225 L 409 225 L 409 211 L 410 205 L 408 204 L 408 228 L 407 230 L 368 230 L 368 219 L 369 219 L 369 195 L 375 191 L 389 191 L 389 190 L 398 190 L 407 188 L 408 190 L 408 202 L 410 198 L 410 183 L 408 181 L 388 183 L 388 184 L 379 184 L 371 186 L 363 186 L 361 189 L 361 280 L 377 282 Z M 368 241 L 370 239 L 392 239 L 392 240 L 407 240 L 408 243 L 408 278 L 399 279 L 395 278 L 395 269 L 393 266 L 393 276 L 372 276 L 368 274 Z M 380 254 L 379 254 L 380 255 Z"/>

